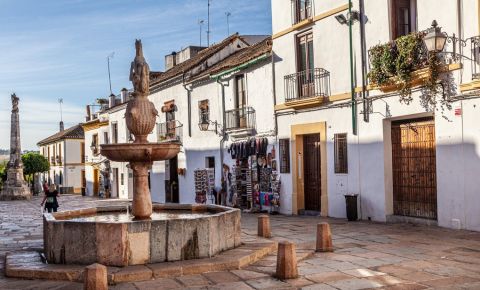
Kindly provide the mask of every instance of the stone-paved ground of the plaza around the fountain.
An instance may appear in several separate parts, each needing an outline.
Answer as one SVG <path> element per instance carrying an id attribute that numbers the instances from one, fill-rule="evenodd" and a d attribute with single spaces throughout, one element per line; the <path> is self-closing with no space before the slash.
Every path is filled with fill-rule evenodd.
<path id="1" fill-rule="evenodd" d="M 0 202 L 0 261 L 8 251 L 42 248 L 40 198 Z M 65 196 L 61 210 L 120 201 Z M 300 277 L 272 278 L 275 255 L 242 270 L 125 283 L 110 289 L 480 289 L 480 233 L 438 227 L 373 222 L 347 223 L 317 217 L 271 216 L 274 240 L 313 248 L 316 224 L 328 221 L 334 253 L 316 253 L 299 263 Z M 245 237 L 256 234 L 256 216 L 243 214 Z M 32 281 L 3 276 L 0 289 L 83 289 L 81 283 Z"/>

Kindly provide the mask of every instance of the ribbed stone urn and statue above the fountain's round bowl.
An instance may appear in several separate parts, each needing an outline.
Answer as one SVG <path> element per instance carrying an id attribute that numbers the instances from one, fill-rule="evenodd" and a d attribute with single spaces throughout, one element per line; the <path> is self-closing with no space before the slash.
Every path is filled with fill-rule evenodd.
<path id="1" fill-rule="evenodd" d="M 135 40 L 135 49 L 135 59 L 130 67 L 134 99 L 128 102 L 125 120 L 127 128 L 135 136 L 134 143 L 148 143 L 147 137 L 155 127 L 158 111 L 147 98 L 150 92 L 150 68 L 143 57 L 141 40 Z"/>

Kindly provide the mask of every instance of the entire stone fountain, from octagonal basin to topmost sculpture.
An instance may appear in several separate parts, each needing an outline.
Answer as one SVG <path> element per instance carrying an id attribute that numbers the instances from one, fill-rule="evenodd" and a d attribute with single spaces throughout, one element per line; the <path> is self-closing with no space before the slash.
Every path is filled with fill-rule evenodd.
<path id="1" fill-rule="evenodd" d="M 97 207 L 44 214 L 44 252 L 50 264 L 128 266 L 209 258 L 241 244 L 240 211 L 217 205 L 154 204 L 148 170 L 173 158 L 178 142 L 150 143 L 157 110 L 147 98 L 149 67 L 140 40 L 130 69 L 133 99 L 127 104 L 127 127 L 133 143 L 106 144 L 101 154 L 129 162 L 133 201 L 125 206 Z M 131 215 L 130 215 L 131 212 Z"/>

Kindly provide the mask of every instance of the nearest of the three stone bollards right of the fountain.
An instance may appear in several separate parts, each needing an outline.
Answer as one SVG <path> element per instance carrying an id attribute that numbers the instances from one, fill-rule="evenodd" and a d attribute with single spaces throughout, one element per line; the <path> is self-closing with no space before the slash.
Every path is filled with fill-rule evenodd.
<path id="1" fill-rule="evenodd" d="M 281 280 L 298 277 L 297 253 L 294 243 L 280 242 L 278 244 L 276 277 Z"/>

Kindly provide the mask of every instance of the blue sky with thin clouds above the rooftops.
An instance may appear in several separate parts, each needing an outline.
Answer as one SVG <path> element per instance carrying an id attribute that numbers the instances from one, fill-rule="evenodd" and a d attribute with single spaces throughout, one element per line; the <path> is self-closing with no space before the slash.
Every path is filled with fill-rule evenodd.
<path id="1" fill-rule="evenodd" d="M 211 0 L 211 43 L 230 32 L 271 34 L 270 0 Z M 85 105 L 130 87 L 135 38 L 152 70 L 164 56 L 199 44 L 207 0 L 0 0 L 0 148 L 9 148 L 10 94 L 20 97 L 22 149 L 58 131 L 58 98 L 66 127 L 82 122 Z M 206 43 L 206 25 L 203 44 Z"/>

